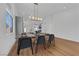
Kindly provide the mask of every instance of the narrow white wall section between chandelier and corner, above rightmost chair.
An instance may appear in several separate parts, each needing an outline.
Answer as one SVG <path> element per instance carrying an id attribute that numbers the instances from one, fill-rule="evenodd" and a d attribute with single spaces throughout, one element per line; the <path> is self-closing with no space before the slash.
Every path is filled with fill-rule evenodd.
<path id="1" fill-rule="evenodd" d="M 52 19 L 52 16 L 47 16 L 45 19 L 43 19 L 42 22 L 42 32 L 44 33 L 54 33 L 55 26 L 54 26 L 54 20 Z"/>

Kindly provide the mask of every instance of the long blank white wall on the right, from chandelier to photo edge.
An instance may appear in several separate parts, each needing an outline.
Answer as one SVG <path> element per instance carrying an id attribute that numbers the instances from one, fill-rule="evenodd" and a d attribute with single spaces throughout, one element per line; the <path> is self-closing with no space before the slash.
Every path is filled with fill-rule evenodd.
<path id="1" fill-rule="evenodd" d="M 43 26 L 55 36 L 79 42 L 79 7 L 49 16 Z M 43 30 L 44 31 L 44 30 Z"/>

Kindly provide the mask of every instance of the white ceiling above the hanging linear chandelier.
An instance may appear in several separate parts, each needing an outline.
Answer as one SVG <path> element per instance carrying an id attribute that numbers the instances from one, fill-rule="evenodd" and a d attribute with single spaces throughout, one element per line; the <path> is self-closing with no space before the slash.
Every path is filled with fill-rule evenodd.
<path id="1" fill-rule="evenodd" d="M 21 16 L 33 16 L 34 4 L 33 3 L 17 3 L 15 7 L 18 11 L 18 15 Z M 39 3 L 38 15 L 40 17 L 47 17 L 59 12 L 75 9 L 79 7 L 77 3 Z"/>

